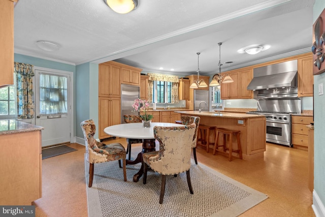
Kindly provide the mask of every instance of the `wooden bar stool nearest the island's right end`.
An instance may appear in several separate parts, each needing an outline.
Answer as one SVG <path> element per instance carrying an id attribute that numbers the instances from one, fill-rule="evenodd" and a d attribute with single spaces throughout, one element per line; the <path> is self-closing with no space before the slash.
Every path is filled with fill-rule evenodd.
<path id="1" fill-rule="evenodd" d="M 225 129 L 225 128 L 217 128 L 216 130 L 218 132 L 217 132 L 217 136 L 216 136 L 216 139 L 215 139 L 215 142 L 214 142 L 213 155 L 215 155 L 216 151 L 220 151 L 220 150 L 218 150 L 218 147 L 223 147 L 223 152 L 224 153 L 226 153 L 226 150 L 229 151 L 229 154 L 228 154 L 229 161 L 232 161 L 232 152 L 239 153 L 239 158 L 243 159 L 242 148 L 241 148 L 240 139 L 239 139 L 240 131 L 229 130 L 229 129 Z M 223 134 L 223 144 L 222 145 L 217 144 L 218 143 L 219 133 Z M 229 135 L 229 145 L 228 145 L 229 147 L 228 148 L 226 147 L 226 135 Z M 237 135 L 237 145 L 238 145 L 237 150 L 233 150 L 233 135 L 234 136 Z"/>

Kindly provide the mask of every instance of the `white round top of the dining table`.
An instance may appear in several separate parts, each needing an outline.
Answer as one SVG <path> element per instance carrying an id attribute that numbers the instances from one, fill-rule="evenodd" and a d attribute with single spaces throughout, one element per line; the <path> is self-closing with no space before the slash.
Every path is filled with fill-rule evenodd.
<path id="1" fill-rule="evenodd" d="M 144 128 L 143 123 L 122 123 L 121 125 L 113 125 L 104 129 L 104 132 L 111 136 L 133 139 L 154 139 L 153 127 L 180 127 L 178 123 L 161 123 L 152 122 L 150 128 Z"/>

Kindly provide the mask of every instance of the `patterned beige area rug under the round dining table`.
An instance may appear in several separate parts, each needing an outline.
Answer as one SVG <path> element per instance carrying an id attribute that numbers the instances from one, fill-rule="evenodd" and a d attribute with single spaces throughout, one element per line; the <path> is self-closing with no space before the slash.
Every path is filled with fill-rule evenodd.
<path id="1" fill-rule="evenodd" d="M 138 153 L 141 147 L 133 147 Z M 135 156 L 133 156 L 133 159 Z M 95 164 L 94 180 L 88 188 L 89 163 L 85 161 L 88 216 L 238 216 L 268 198 L 202 164 L 190 168 L 194 194 L 186 182 L 186 173 L 166 179 L 164 203 L 159 204 L 161 176 L 148 171 L 147 183 L 133 182 L 138 165 L 127 165 L 123 181 L 118 162 Z"/>

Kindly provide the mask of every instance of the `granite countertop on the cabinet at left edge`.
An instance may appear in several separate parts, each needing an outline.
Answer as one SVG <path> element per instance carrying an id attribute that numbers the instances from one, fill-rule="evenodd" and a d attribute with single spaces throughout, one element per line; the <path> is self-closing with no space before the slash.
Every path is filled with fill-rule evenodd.
<path id="1" fill-rule="evenodd" d="M 44 130 L 43 127 L 31 125 L 19 120 L 0 120 L 0 135 Z"/>

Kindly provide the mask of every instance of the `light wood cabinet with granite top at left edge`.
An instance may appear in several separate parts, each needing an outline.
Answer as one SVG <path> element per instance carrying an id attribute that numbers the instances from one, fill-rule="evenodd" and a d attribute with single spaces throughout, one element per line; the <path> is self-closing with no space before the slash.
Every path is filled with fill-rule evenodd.
<path id="1" fill-rule="evenodd" d="M 31 205 L 42 197 L 43 127 L 0 120 L 0 204 Z"/>

